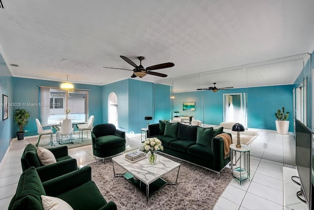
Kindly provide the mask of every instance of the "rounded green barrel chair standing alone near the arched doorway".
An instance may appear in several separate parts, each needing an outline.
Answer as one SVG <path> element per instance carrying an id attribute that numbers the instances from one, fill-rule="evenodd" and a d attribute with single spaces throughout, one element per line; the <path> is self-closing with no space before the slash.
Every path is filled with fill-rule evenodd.
<path id="1" fill-rule="evenodd" d="M 95 125 L 92 131 L 93 154 L 111 157 L 126 150 L 126 133 L 117 130 L 114 124 Z"/>

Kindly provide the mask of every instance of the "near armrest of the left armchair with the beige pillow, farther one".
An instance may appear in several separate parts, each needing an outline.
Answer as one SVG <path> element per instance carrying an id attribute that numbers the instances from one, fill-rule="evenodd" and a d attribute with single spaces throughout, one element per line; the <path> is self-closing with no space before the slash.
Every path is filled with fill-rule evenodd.
<path id="1" fill-rule="evenodd" d="M 78 169 L 77 159 L 71 158 L 36 168 L 42 182 L 51 180 L 61 175 L 76 171 Z"/>

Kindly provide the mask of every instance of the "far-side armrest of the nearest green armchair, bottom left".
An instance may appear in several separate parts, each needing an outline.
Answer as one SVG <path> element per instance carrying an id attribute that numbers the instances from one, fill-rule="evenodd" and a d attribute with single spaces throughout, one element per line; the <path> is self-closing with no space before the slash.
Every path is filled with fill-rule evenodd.
<path id="1" fill-rule="evenodd" d="M 76 171 L 43 182 L 48 196 L 57 196 L 92 180 L 92 168 L 85 166 Z M 86 192 L 87 193 L 87 192 Z"/>

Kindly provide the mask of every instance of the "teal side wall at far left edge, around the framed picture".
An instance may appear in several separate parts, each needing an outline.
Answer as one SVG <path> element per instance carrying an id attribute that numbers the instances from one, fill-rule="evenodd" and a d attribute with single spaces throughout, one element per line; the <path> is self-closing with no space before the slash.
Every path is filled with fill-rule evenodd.
<path id="1" fill-rule="evenodd" d="M 2 94 L 7 95 L 9 103 L 13 102 L 12 75 L 0 55 L 0 100 Z M 3 104 L 2 104 L 3 105 Z M 0 107 L 0 161 L 3 159 L 11 141 L 11 130 L 13 126 L 13 107 L 8 106 L 8 119 L 2 120 L 2 106 Z"/>

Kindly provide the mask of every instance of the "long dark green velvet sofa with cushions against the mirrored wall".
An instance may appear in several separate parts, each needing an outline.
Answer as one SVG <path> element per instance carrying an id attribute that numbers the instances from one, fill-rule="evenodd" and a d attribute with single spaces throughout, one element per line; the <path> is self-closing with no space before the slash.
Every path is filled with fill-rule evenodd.
<path id="1" fill-rule="evenodd" d="M 229 156 L 225 158 L 223 139 L 216 137 L 220 133 L 224 133 L 223 127 L 203 128 L 161 120 L 148 126 L 148 137 L 157 137 L 162 143 L 163 151 L 158 150 L 158 152 L 183 159 L 216 173 L 220 173 L 230 162 Z M 229 136 L 231 137 L 231 134 Z"/>

